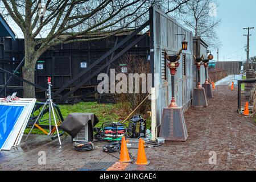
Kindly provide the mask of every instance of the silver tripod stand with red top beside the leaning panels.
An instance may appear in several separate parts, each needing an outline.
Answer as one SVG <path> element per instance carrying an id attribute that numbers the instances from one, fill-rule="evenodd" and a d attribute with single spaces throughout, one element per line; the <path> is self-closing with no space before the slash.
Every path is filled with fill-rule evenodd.
<path id="1" fill-rule="evenodd" d="M 34 126 L 38 127 L 39 130 L 43 131 L 44 134 L 51 136 L 55 131 L 57 131 L 57 137 L 59 139 L 59 143 L 61 146 L 61 141 L 60 141 L 60 134 L 59 134 L 59 129 L 58 129 L 58 125 L 60 124 L 60 122 L 56 122 L 56 117 L 55 117 L 55 107 L 53 106 L 53 102 L 52 102 L 52 95 L 51 95 L 51 77 L 48 77 L 48 99 L 47 101 L 44 103 L 43 105 L 43 109 L 40 111 L 38 117 L 36 118 L 34 124 L 32 125 L 30 132 L 28 133 L 25 142 L 27 140 L 27 138 L 29 137 L 29 135 L 31 134 L 31 131 L 34 129 Z M 39 118 L 41 118 L 43 116 L 43 112 L 44 112 L 44 108 L 47 107 L 48 105 L 48 109 L 49 109 L 49 133 L 47 133 L 46 130 L 42 129 L 38 124 L 36 124 L 39 121 Z M 53 119 L 55 122 L 55 127 L 52 129 L 52 125 L 51 125 L 51 114 L 53 115 Z"/>

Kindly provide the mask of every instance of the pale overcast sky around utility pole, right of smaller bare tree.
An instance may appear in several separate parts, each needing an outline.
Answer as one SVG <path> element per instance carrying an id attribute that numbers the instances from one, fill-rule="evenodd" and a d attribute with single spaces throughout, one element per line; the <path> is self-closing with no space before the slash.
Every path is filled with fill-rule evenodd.
<path id="1" fill-rule="evenodd" d="M 217 0 L 217 16 L 222 22 L 217 30 L 222 47 L 220 61 L 246 60 L 246 30 L 255 27 L 250 36 L 250 57 L 256 56 L 256 1 L 255 0 Z M 216 55 L 216 52 L 213 52 Z M 225 58 L 224 58 L 225 57 Z M 216 55 L 217 60 L 217 55 Z"/>

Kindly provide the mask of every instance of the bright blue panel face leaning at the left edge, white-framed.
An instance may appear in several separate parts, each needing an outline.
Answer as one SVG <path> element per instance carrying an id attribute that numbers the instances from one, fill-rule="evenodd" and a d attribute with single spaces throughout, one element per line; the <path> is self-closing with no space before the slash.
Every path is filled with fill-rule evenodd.
<path id="1" fill-rule="evenodd" d="M 23 109 L 24 106 L 0 105 L 0 149 L 5 144 Z"/>

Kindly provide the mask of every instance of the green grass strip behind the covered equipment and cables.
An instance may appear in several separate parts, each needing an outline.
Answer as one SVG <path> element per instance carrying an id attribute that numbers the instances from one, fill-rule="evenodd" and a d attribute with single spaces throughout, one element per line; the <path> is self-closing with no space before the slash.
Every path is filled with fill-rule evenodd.
<path id="1" fill-rule="evenodd" d="M 75 105 L 59 105 L 60 111 L 65 119 L 70 113 L 94 113 L 99 122 L 95 127 L 101 127 L 103 122 L 106 121 L 114 121 L 118 122 L 121 118 L 126 117 L 125 113 L 122 113 L 122 108 L 118 104 L 97 104 L 97 102 L 80 102 Z M 36 112 L 39 114 L 39 111 Z M 49 114 L 46 113 L 42 120 L 47 119 Z M 54 125 L 54 121 L 51 121 L 52 125 Z M 146 119 L 147 129 L 151 127 L 151 118 Z M 42 121 L 40 125 L 49 125 L 49 121 Z M 28 134 L 30 128 L 25 130 L 25 134 Z M 39 129 L 33 129 L 32 134 L 43 134 Z"/>

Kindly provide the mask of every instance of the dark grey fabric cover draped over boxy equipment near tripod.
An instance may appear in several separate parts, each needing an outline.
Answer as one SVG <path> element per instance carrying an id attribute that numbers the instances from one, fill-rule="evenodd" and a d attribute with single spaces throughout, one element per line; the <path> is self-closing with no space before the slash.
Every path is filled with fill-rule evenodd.
<path id="1" fill-rule="evenodd" d="M 98 123 L 98 118 L 94 113 L 72 113 L 64 119 L 60 127 L 71 135 L 72 138 L 75 138 L 82 127 L 84 127 L 88 122 L 92 124 L 92 127 L 89 127 L 90 129 L 93 129 L 93 127 Z M 93 134 L 93 131 L 91 131 L 91 133 Z"/>

